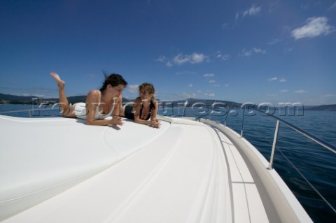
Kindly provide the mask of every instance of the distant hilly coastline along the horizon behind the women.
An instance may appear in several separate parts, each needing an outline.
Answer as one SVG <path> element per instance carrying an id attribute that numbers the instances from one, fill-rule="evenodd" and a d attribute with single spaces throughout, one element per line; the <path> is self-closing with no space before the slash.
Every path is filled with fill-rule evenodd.
<path id="1" fill-rule="evenodd" d="M 77 102 L 85 102 L 86 96 L 69 96 L 68 101 L 69 103 L 77 103 Z M 158 99 L 159 100 L 159 99 Z M 133 100 L 123 98 L 123 102 L 130 102 Z M 181 105 L 188 101 L 188 105 L 194 103 L 203 103 L 206 106 L 211 106 L 214 102 L 216 103 L 224 103 L 226 106 L 230 106 L 231 108 L 239 108 L 241 103 L 232 102 L 232 101 L 218 101 L 218 100 L 208 100 L 208 99 L 186 99 L 186 100 L 179 100 L 179 101 L 172 101 L 175 105 Z M 1 94 L 0 93 L 0 104 L 41 104 L 41 103 L 57 103 L 59 99 L 43 99 L 37 96 L 17 96 L 12 94 Z M 336 104 L 331 105 L 321 105 L 321 106 L 304 106 L 304 110 L 330 110 L 336 111 Z"/>

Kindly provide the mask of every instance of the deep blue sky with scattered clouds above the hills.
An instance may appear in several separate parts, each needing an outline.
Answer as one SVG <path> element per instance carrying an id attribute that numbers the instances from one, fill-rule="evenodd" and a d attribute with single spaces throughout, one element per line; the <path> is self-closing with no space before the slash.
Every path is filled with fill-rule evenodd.
<path id="1" fill-rule="evenodd" d="M 336 1 L 0 0 L 0 93 L 68 96 L 102 69 L 161 100 L 336 103 Z"/>

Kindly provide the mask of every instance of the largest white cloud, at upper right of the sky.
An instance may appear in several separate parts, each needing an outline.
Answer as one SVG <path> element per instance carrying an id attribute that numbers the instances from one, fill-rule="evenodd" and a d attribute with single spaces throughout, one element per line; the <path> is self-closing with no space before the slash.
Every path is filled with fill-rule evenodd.
<path id="1" fill-rule="evenodd" d="M 295 40 L 300 38 L 314 38 L 316 36 L 328 35 L 335 31 L 335 27 L 327 24 L 326 17 L 309 17 L 303 27 L 294 29 L 292 36 Z"/>

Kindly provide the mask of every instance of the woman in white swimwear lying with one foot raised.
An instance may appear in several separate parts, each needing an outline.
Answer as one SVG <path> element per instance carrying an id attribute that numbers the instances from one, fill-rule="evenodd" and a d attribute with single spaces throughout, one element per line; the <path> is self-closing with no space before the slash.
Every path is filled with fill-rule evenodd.
<path id="1" fill-rule="evenodd" d="M 121 117 L 113 117 L 112 120 L 104 120 L 111 115 L 119 115 L 122 103 L 122 93 L 127 82 L 119 74 L 111 74 L 105 77 L 101 89 L 92 89 L 86 97 L 85 103 L 75 103 L 69 106 L 64 87 L 65 82 L 57 73 L 50 73 L 55 79 L 59 91 L 59 104 L 63 117 L 79 117 L 86 120 L 86 124 L 94 125 L 123 125 Z"/>

